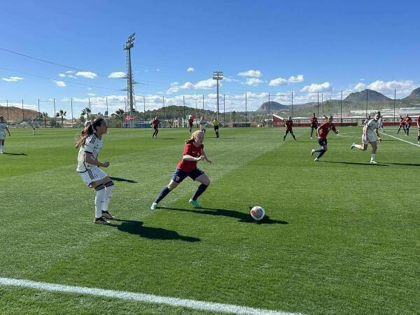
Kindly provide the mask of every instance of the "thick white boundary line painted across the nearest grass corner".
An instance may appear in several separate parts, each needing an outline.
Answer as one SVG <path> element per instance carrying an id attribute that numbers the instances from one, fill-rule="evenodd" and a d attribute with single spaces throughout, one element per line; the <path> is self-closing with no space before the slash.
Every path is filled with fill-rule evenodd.
<path id="1" fill-rule="evenodd" d="M 104 290 L 101 288 L 87 288 L 83 286 L 64 286 L 62 284 L 45 283 L 30 280 L 0 278 L 0 285 L 18 286 L 36 290 L 45 290 L 63 293 L 79 293 L 85 295 L 113 297 L 122 300 L 132 300 L 146 303 L 166 304 L 174 307 L 188 307 L 201 311 L 220 311 L 233 314 L 258 314 L 258 315 L 297 315 L 285 311 L 274 311 L 271 309 L 257 309 L 253 307 L 243 307 L 232 304 L 221 304 L 213 302 L 203 302 L 197 300 L 180 299 L 178 297 L 164 297 L 144 293 L 133 293 L 127 291 Z"/>

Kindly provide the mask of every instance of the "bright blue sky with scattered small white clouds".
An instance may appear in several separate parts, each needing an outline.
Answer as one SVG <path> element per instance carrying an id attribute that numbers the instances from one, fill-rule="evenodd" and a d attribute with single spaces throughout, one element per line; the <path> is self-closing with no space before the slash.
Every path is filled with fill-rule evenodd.
<path id="1" fill-rule="evenodd" d="M 228 109 L 244 106 L 245 93 L 248 109 L 268 93 L 290 104 L 292 91 L 295 103 L 366 87 L 402 97 L 420 85 L 419 9 L 417 1 L 5 1 L 0 48 L 71 68 L 0 50 L 0 104 L 55 98 L 69 112 L 71 97 L 77 111 L 90 97 L 103 113 L 109 97 L 110 112 L 123 107 L 125 80 L 109 76 L 126 71 L 133 32 L 139 110 L 143 97 L 151 109 L 182 95 L 195 106 L 202 94 L 213 109 L 214 70 L 224 71 Z"/>

